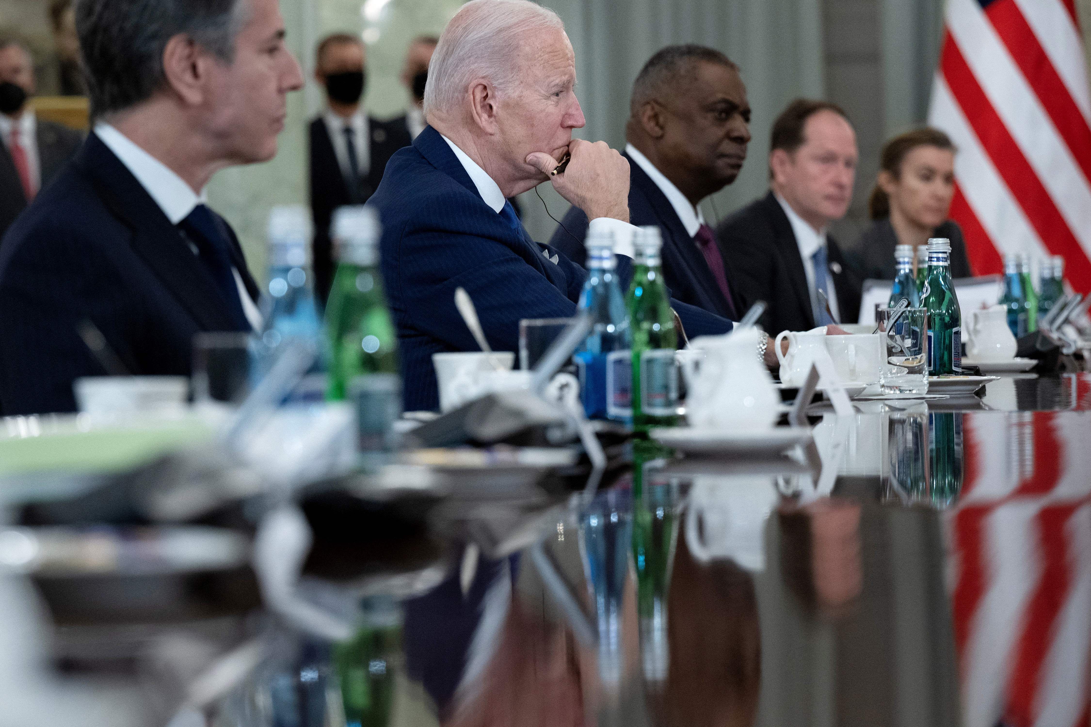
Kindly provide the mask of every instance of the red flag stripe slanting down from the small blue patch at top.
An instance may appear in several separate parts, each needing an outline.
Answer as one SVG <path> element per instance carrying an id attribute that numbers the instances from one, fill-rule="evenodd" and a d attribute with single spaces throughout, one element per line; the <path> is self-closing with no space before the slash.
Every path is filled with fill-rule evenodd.
<path id="1" fill-rule="evenodd" d="M 1084 183 L 1091 181 L 1091 125 L 1088 125 L 1076 100 L 1068 94 L 1065 82 L 1050 63 L 1027 19 L 1014 0 L 996 2 L 985 14 L 1050 114 L 1057 133 L 1083 172 Z"/>

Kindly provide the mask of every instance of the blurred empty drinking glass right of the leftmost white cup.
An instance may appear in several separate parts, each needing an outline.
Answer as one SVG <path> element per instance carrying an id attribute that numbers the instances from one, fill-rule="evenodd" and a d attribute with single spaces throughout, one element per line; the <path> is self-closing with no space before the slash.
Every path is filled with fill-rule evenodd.
<path id="1" fill-rule="evenodd" d="M 193 337 L 193 400 L 239 403 L 250 392 L 251 356 L 256 338 L 243 332 L 201 332 Z"/>

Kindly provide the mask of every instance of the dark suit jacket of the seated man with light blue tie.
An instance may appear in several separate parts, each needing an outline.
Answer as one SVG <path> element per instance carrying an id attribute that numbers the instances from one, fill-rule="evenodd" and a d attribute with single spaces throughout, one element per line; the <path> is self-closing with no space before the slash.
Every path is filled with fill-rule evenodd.
<path id="1" fill-rule="evenodd" d="M 733 293 L 742 299 L 741 310 L 759 300 L 768 303 L 762 325 L 770 336 L 815 327 L 807 274 L 795 233 L 772 192 L 723 220 L 716 237 L 733 275 Z M 856 323 L 862 280 L 837 242 L 827 235 L 826 244 L 841 322 Z"/>

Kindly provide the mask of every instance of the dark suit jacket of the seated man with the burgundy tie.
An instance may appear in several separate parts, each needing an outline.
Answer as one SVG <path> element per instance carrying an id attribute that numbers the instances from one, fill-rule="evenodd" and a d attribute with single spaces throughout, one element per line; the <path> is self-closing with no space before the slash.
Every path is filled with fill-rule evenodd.
<path id="1" fill-rule="evenodd" d="M 630 159 L 628 155 L 623 156 L 628 159 L 628 221 L 639 227 L 655 225 L 662 230 L 663 279 L 671 289 L 671 295 L 674 300 L 730 318 L 728 301 L 716 283 L 704 254 L 686 232 L 667 195 L 640 165 Z M 550 244 L 562 251 L 574 263 L 585 265 L 587 250 L 584 247 L 584 239 L 587 237 L 587 215 L 583 209 L 573 207 L 561 222 L 563 227 L 559 226 L 553 232 Z M 727 260 L 724 268 L 728 268 Z M 739 306 L 742 301 L 734 294 L 731 270 L 726 269 L 726 271 L 738 312 L 741 310 Z"/>

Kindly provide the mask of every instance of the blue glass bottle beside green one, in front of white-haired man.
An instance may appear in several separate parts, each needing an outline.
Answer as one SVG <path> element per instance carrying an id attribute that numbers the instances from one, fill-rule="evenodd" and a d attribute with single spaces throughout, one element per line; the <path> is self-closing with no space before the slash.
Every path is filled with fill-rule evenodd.
<path id="1" fill-rule="evenodd" d="M 591 316 L 591 332 L 576 351 L 579 396 L 589 419 L 633 416 L 628 314 L 621 292 L 613 235 L 587 238 L 587 282 L 579 310 Z"/>

